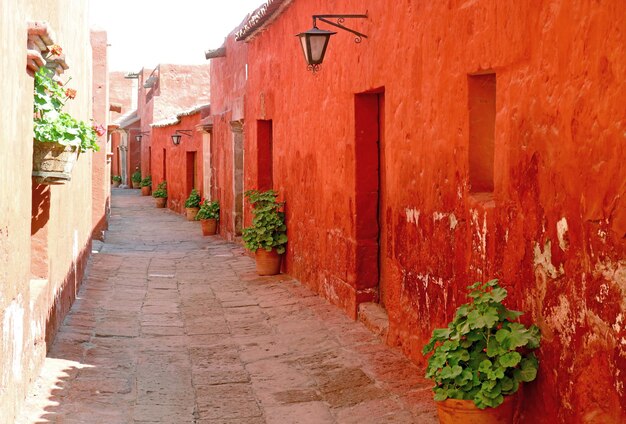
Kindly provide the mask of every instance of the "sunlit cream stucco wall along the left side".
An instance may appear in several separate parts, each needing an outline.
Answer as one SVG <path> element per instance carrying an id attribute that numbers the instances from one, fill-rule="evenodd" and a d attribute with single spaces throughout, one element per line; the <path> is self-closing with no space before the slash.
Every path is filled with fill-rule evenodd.
<path id="1" fill-rule="evenodd" d="M 26 73 L 26 23 L 49 22 L 70 66 L 63 81 L 71 77 L 68 86 L 77 90 L 66 110 L 88 121 L 92 53 L 86 17 L 87 5 L 77 0 L 52 0 L 45 7 L 34 0 L 0 2 L 0 417 L 6 422 L 13 422 L 80 286 L 93 229 L 91 153 L 81 154 L 65 185 L 31 182 L 33 79 Z"/>

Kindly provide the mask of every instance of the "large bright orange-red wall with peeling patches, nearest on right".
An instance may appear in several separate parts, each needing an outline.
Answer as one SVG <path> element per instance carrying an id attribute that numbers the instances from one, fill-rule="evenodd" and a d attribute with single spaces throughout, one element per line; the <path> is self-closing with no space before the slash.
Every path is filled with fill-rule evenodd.
<path id="1" fill-rule="evenodd" d="M 340 31 L 307 72 L 292 34 L 313 14 L 365 11 L 346 24 L 369 38 Z M 381 295 L 388 342 L 418 362 L 465 287 L 500 278 L 543 332 L 520 422 L 624 422 L 625 27 L 621 0 L 295 0 L 248 43 L 245 103 L 247 158 L 251 124 L 273 123 L 287 272 L 351 316 Z M 468 81 L 484 72 L 496 74 L 486 195 L 469 178 Z M 379 106 L 358 106 L 372 92 Z M 378 107 L 379 178 L 358 124 Z M 254 188 L 254 161 L 245 169 Z M 364 194 L 371 174 L 378 202 Z M 357 278 L 367 222 L 380 227 L 378 292 Z"/>

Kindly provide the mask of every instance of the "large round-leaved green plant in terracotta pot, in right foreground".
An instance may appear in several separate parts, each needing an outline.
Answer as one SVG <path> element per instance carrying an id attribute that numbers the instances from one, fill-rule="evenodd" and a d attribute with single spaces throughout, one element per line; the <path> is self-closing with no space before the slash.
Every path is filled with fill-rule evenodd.
<path id="1" fill-rule="evenodd" d="M 423 354 L 426 377 L 435 382 L 439 422 L 512 423 L 514 395 L 537 376 L 536 325 L 517 322 L 522 312 L 507 309 L 498 280 L 468 287 L 469 303 L 459 306 L 448 328 L 435 329 Z"/>

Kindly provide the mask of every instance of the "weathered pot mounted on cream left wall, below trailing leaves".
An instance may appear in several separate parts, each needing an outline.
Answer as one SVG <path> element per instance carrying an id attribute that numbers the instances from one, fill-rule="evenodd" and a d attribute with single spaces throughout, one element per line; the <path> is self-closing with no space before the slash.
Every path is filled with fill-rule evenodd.
<path id="1" fill-rule="evenodd" d="M 59 143 L 33 143 L 33 177 L 39 184 L 64 184 L 72 179 L 78 159 L 78 146 Z"/>

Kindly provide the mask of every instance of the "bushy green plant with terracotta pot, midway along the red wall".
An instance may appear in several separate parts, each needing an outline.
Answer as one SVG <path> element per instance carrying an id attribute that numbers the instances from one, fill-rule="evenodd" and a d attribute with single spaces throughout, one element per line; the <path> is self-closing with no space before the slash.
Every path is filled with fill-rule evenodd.
<path id="1" fill-rule="evenodd" d="M 278 194 L 274 190 L 248 190 L 244 194 L 254 215 L 252 226 L 243 230 L 244 246 L 255 253 L 259 275 L 278 274 L 287 244 L 285 213 L 280 210 L 285 202 L 276 201 Z"/>

